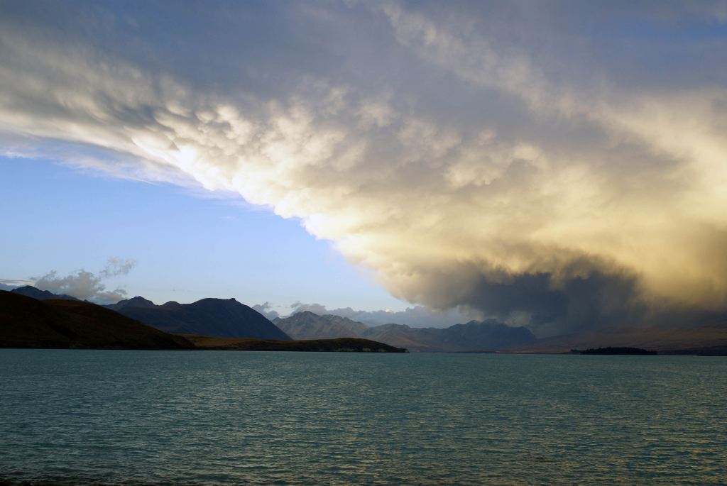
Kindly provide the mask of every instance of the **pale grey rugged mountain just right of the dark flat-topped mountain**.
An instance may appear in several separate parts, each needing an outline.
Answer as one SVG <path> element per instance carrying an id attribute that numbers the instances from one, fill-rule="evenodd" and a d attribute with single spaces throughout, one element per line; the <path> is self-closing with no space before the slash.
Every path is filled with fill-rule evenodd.
<path id="1" fill-rule="evenodd" d="M 273 323 L 293 339 L 335 339 L 364 336 L 369 326 L 337 315 L 317 315 L 308 310 Z"/>

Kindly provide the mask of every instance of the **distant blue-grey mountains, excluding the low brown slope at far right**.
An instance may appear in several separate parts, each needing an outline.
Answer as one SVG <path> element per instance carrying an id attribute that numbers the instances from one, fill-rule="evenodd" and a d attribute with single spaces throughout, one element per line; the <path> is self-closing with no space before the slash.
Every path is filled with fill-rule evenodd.
<path id="1" fill-rule="evenodd" d="M 77 300 L 71 296 L 56 296 L 30 285 L 12 292 L 41 300 Z M 445 329 L 411 328 L 401 324 L 370 327 L 347 317 L 321 316 L 305 311 L 270 322 L 260 312 L 235 299 L 201 299 L 192 304 L 170 301 L 157 305 L 137 296 L 104 307 L 167 333 L 217 338 L 279 341 L 359 338 L 412 351 L 433 352 L 494 351 L 535 341 L 535 336 L 527 328 L 513 328 L 495 321 L 471 321 Z"/>

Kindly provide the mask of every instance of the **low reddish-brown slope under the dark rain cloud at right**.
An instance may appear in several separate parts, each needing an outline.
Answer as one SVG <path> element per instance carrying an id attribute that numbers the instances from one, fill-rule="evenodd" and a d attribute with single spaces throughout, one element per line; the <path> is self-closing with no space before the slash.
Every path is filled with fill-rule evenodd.
<path id="1" fill-rule="evenodd" d="M 514 352 L 569 352 L 571 349 L 633 347 L 676 354 L 727 354 L 727 322 L 692 326 L 619 326 L 539 339 Z"/>

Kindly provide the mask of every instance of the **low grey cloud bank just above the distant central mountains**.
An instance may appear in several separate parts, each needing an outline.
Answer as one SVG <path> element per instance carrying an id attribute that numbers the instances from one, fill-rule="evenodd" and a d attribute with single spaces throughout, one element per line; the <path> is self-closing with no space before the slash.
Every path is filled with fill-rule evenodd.
<path id="1" fill-rule="evenodd" d="M 295 302 L 291 306 L 292 314 L 308 310 L 318 315 L 340 315 L 368 325 L 406 324 L 413 328 L 446 328 L 450 325 L 467 323 L 482 318 L 481 312 L 474 309 L 447 309 L 435 312 L 420 305 L 407 307 L 406 310 L 354 310 L 350 307 L 327 309 L 321 304 L 303 304 Z"/>

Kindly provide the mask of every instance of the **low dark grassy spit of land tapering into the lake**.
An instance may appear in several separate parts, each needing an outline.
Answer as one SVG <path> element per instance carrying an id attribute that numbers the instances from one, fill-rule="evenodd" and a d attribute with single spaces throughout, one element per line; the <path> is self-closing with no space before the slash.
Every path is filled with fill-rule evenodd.
<path id="1" fill-rule="evenodd" d="M 185 334 L 197 349 L 230 351 L 308 351 L 308 352 L 406 352 L 406 349 L 369 339 L 306 339 L 275 341 L 270 339 L 225 339 Z"/>

